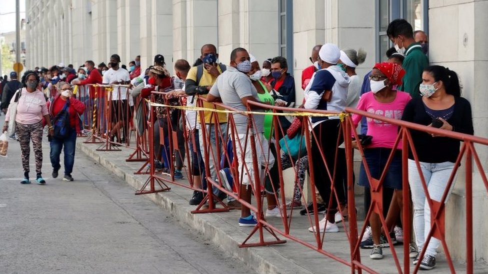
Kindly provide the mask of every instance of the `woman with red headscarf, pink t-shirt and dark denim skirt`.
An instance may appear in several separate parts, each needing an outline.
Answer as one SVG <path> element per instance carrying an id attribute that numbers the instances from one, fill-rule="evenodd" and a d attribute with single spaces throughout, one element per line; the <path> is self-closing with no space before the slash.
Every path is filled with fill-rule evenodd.
<path id="1" fill-rule="evenodd" d="M 401 78 L 405 71 L 400 65 L 395 63 L 377 63 L 374 65 L 371 75 L 369 76 L 371 91 L 364 93 L 357 103 L 357 109 L 374 113 L 387 118 L 401 119 L 405 105 L 410 101 L 411 97 L 407 92 L 396 90 L 396 86 L 401 84 Z M 360 115 L 352 115 L 352 121 L 357 126 L 361 120 Z M 366 118 L 367 121 L 367 136 L 371 136 L 369 144 L 364 144 L 364 158 L 367 167 L 361 162 L 359 169 L 359 185 L 365 187 L 365 191 L 369 191 L 369 181 L 366 176 L 366 168 L 369 170 L 371 178 L 379 180 L 386 162 L 398 134 L 398 127 L 383 121 L 378 121 L 371 118 Z M 364 143 L 364 142 L 363 142 Z M 357 147 L 357 144 L 353 144 Z M 386 176 L 382 182 L 382 187 L 393 190 L 393 197 L 391 204 L 399 203 L 401 206 L 401 143 L 398 143 L 393 159 L 387 168 Z M 385 192 L 385 191 L 383 191 Z M 371 196 L 372 193 L 371 193 Z M 383 200 L 385 199 L 383 195 Z M 386 202 L 386 201 L 385 201 Z M 383 207 L 388 207 L 386 203 Z M 395 207 L 397 209 L 397 207 Z M 401 207 L 400 207 L 401 208 Z M 396 211 L 396 210 L 395 210 Z M 386 219 L 389 216 L 397 217 L 396 212 L 388 211 Z M 394 218 L 396 219 L 396 218 Z M 396 220 L 391 220 L 394 223 Z M 386 238 L 381 235 L 381 222 L 379 215 L 372 212 L 369 218 L 371 225 L 372 239 L 366 239 L 361 242 L 361 248 L 372 248 L 369 258 L 382 259 L 383 253 L 381 250 L 382 244 L 386 242 Z M 389 229 L 384 229 L 389 231 Z M 369 243 L 366 243 L 369 242 Z"/>

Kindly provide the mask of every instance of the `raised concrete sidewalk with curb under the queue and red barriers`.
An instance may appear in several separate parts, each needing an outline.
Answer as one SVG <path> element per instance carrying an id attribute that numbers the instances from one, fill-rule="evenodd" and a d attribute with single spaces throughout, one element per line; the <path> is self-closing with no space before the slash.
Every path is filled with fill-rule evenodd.
<path id="1" fill-rule="evenodd" d="M 125 159 L 132 152 L 132 149 L 120 147 L 121 151 L 96 151 L 99 144 L 85 144 L 83 138 L 79 138 L 77 148 L 89 157 L 100 163 L 102 166 L 122 178 L 135 189 L 140 189 L 147 179 L 147 175 L 134 175 L 142 162 L 125 162 Z M 186 178 L 186 175 L 184 175 Z M 181 180 L 179 183 L 186 183 Z M 192 191 L 168 184 L 171 187 L 169 192 L 144 195 L 154 203 L 160 205 L 164 210 L 186 224 L 195 233 L 211 241 L 232 257 L 239 258 L 247 266 L 258 273 L 350 273 L 350 269 L 312 249 L 309 249 L 292 240 L 280 236 L 280 239 L 287 240 L 284 245 L 256 248 L 239 248 L 238 245 L 247 237 L 250 228 L 240 228 L 237 224 L 239 212 L 230 211 L 225 213 L 191 214 L 194 206 L 188 205 Z M 134 192 L 135 192 L 134 189 Z M 142 197 L 141 197 L 142 198 Z M 289 214 L 289 212 L 288 212 Z M 273 226 L 282 229 L 283 225 L 279 218 L 270 218 L 268 222 Z M 358 225 L 362 226 L 362 222 Z M 346 222 L 348 230 L 348 223 Z M 305 216 L 299 216 L 293 211 L 293 219 L 290 225 L 290 235 L 316 245 L 312 233 L 307 231 L 310 226 Z M 266 239 L 272 240 L 265 234 Z M 256 237 L 251 238 L 249 243 L 256 242 Z M 344 233 L 344 227 L 339 225 L 339 233 L 327 233 L 323 244 L 323 250 L 335 256 L 350 261 L 349 243 Z M 395 251 L 402 266 L 403 246 L 395 247 Z M 361 262 L 378 273 L 398 273 L 389 248 L 383 248 L 383 260 L 370 260 L 370 250 L 361 250 Z M 410 265 L 411 269 L 413 265 Z M 455 264 L 457 273 L 465 273 L 465 265 Z M 411 271 L 410 269 L 410 271 Z M 445 258 L 438 256 L 436 268 L 429 273 L 448 273 L 449 268 Z M 488 273 L 486 265 L 476 265 L 476 273 Z"/>

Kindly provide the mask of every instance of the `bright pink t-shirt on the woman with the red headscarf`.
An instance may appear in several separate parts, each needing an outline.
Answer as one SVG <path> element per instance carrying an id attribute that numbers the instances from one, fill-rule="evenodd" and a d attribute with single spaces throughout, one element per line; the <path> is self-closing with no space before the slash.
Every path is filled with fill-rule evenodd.
<path id="1" fill-rule="evenodd" d="M 361 95 L 356 108 L 387 118 L 400 120 L 403 115 L 403 109 L 405 109 L 405 105 L 410 99 L 410 94 L 398 90 L 396 91 L 396 98 L 391 103 L 380 103 L 376 101 L 374 94 L 369 91 Z M 352 115 L 354 126 L 357 126 L 360 120 L 360 115 Z M 367 135 L 373 137 L 371 144 L 367 147 L 393 148 L 396 136 L 398 135 L 398 126 L 368 117 L 366 117 L 366 121 Z M 398 143 L 397 149 L 401 149 L 401 143 Z"/>

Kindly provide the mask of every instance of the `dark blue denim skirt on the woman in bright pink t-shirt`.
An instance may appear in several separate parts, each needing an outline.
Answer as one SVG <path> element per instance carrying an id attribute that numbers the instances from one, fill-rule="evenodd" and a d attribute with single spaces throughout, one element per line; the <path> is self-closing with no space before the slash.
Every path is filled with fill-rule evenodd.
<path id="1" fill-rule="evenodd" d="M 364 149 L 364 158 L 366 159 L 369 173 L 372 178 L 377 180 L 380 179 L 390 153 L 391 149 L 389 148 Z M 383 187 L 401 190 L 401 179 L 401 150 L 396 150 L 386 172 L 386 176 L 384 177 Z M 369 187 L 369 181 L 367 180 L 366 171 L 362 161 L 359 168 L 358 185 Z"/>

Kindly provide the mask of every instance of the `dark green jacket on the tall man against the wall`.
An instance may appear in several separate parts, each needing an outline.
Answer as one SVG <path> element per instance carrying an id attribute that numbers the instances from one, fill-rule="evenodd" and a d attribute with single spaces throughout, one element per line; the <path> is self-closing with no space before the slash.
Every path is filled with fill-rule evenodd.
<path id="1" fill-rule="evenodd" d="M 423 54 L 420 44 L 410 44 L 406 48 L 405 59 L 403 60 L 403 69 L 406 73 L 402 79 L 403 83 L 398 89 L 410 93 L 412 98 L 419 97 L 420 91 L 418 87 L 422 82 L 422 72 L 427 66 L 428 59 Z"/>

